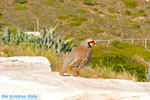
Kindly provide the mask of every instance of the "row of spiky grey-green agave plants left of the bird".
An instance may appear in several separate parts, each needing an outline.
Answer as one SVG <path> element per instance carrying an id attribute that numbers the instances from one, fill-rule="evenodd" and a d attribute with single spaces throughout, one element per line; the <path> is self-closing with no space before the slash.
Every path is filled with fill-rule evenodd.
<path id="1" fill-rule="evenodd" d="M 57 24 L 54 28 L 50 28 L 46 31 L 41 37 L 35 37 L 32 35 L 21 34 L 20 29 L 17 30 L 16 34 L 10 33 L 9 28 L 7 27 L 5 31 L 0 35 L 2 41 L 5 44 L 20 44 L 20 43 L 29 43 L 34 47 L 45 47 L 52 48 L 56 50 L 57 53 L 66 53 L 72 50 L 73 45 L 69 45 L 72 41 L 71 39 L 63 40 L 60 38 L 59 34 L 55 34 L 55 30 L 58 27 Z"/>

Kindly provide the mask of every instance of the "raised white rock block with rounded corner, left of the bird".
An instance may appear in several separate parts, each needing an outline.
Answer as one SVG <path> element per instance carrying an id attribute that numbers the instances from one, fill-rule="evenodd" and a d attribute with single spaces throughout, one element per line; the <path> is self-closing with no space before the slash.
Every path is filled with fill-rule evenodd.
<path id="1" fill-rule="evenodd" d="M 0 57 L 0 71 L 51 72 L 51 66 L 47 58 L 40 56 Z"/>

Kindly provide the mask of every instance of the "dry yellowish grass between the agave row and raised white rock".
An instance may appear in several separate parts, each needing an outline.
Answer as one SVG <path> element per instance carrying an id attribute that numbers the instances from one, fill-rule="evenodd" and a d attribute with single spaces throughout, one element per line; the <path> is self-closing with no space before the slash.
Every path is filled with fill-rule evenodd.
<path id="1" fill-rule="evenodd" d="M 57 54 L 51 49 L 37 49 L 27 44 L 16 45 L 1 45 L 0 56 L 44 56 L 51 63 L 52 71 L 60 71 L 64 54 Z"/>

